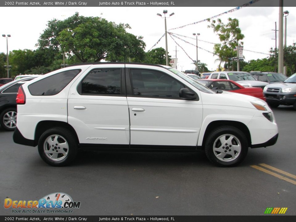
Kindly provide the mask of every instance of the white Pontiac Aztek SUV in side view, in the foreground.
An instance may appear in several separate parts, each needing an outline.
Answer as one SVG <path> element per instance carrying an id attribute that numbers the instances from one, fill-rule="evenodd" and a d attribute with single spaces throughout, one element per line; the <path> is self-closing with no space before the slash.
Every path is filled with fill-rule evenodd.
<path id="1" fill-rule="evenodd" d="M 248 147 L 275 144 L 278 127 L 264 101 L 221 92 L 161 65 L 72 65 L 19 88 L 13 138 L 38 145 L 52 166 L 69 164 L 87 147 L 204 149 L 216 165 L 233 166 Z"/>

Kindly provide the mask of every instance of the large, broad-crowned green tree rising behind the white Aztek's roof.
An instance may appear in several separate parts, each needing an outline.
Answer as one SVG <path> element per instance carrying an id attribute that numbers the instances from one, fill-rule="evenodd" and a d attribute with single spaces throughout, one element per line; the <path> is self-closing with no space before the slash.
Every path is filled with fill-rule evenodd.
<path id="1" fill-rule="evenodd" d="M 60 21 L 48 22 L 39 38 L 39 48 L 51 48 L 75 55 L 80 62 L 134 61 L 144 59 L 142 37 L 126 32 L 128 24 L 119 25 L 100 17 L 84 17 L 77 12 Z"/>

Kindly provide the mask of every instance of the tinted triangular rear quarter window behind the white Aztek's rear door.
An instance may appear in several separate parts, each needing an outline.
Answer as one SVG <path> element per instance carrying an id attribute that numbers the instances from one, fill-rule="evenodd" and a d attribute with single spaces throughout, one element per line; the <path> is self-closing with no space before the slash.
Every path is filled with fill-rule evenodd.
<path id="1" fill-rule="evenodd" d="M 53 96 L 62 91 L 71 82 L 81 69 L 68 70 L 48 76 L 28 86 L 33 96 Z"/>

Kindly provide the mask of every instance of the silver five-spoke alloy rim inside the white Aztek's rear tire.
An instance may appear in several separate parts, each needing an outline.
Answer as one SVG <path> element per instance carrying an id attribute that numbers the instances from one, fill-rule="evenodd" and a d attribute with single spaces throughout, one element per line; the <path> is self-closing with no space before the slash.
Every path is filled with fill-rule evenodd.
<path id="1" fill-rule="evenodd" d="M 67 140 L 60 135 L 51 135 L 43 143 L 45 155 L 53 161 L 61 161 L 67 157 L 69 145 Z"/>

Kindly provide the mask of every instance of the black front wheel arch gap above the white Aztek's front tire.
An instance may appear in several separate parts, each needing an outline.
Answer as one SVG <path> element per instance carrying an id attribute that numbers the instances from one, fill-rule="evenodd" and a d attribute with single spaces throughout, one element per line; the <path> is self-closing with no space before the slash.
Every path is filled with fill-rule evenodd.
<path id="1" fill-rule="evenodd" d="M 204 132 L 204 137 L 203 137 L 203 142 L 202 142 L 203 148 L 202 149 L 204 149 L 206 139 L 207 139 L 208 135 L 210 134 L 210 132 L 218 127 L 221 127 L 221 126 L 233 126 L 233 127 L 238 128 L 239 130 L 241 130 L 245 134 L 245 136 L 248 140 L 248 146 L 249 147 L 251 146 L 251 144 L 252 144 L 251 134 L 250 134 L 248 127 L 244 123 L 239 122 L 239 121 L 217 120 L 217 121 L 212 121 L 208 124 L 208 126 Z"/>

